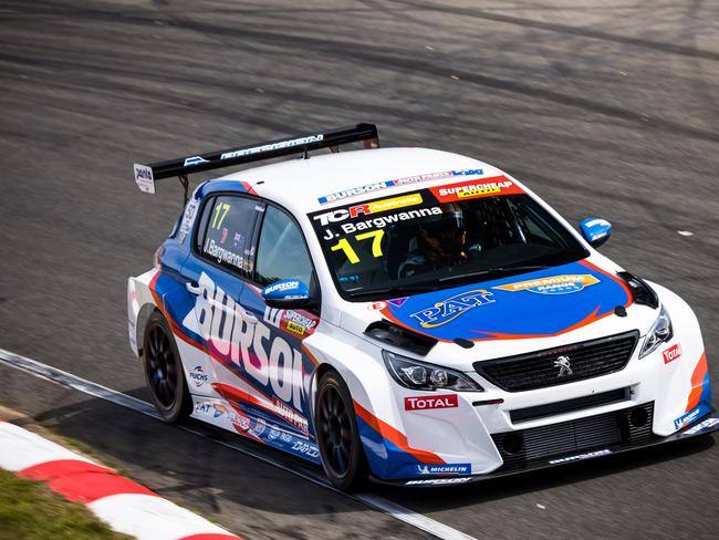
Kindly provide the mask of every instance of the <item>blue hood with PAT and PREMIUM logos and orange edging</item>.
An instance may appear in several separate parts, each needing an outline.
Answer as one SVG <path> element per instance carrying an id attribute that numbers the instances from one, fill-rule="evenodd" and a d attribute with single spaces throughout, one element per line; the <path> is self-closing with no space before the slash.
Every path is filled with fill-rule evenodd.
<path id="1" fill-rule="evenodd" d="M 440 342 L 550 338 L 628 308 L 632 293 L 616 276 L 588 260 L 364 304 L 347 330 L 387 319 Z M 352 322 L 351 322 L 352 320 Z M 362 329 L 364 331 L 364 328 Z"/>

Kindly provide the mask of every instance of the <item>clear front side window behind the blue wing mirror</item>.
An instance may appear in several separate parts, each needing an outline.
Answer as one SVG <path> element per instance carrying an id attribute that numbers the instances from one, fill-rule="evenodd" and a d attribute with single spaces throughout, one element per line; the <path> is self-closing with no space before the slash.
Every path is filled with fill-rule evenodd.
<path id="1" fill-rule="evenodd" d="M 312 262 L 302 231 L 282 210 L 268 206 L 258 243 L 256 278 L 263 285 L 299 279 L 310 285 Z"/>

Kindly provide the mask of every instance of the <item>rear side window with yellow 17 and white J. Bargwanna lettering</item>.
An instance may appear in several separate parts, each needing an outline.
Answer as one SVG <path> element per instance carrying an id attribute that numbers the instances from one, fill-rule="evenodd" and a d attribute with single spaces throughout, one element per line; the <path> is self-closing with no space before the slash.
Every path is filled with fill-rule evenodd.
<path id="1" fill-rule="evenodd" d="M 200 255 L 235 272 L 251 272 L 256 206 L 244 197 L 219 196 L 209 201 L 197 237 Z"/>

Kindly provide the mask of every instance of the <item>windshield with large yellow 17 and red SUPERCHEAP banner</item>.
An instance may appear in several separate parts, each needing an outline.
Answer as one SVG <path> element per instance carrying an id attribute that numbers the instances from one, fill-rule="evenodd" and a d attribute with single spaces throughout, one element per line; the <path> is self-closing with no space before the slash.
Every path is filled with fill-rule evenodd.
<path id="1" fill-rule="evenodd" d="M 456 287 L 588 255 L 504 176 L 355 202 L 310 219 L 348 300 Z"/>

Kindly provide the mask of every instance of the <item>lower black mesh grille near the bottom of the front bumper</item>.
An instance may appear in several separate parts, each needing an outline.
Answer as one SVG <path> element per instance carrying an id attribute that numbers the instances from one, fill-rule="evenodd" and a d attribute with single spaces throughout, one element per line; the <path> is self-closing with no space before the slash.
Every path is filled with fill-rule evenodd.
<path id="1" fill-rule="evenodd" d="M 501 470 L 521 469 L 591 450 L 643 444 L 652 433 L 654 402 L 576 420 L 492 435 L 504 465 Z"/>

